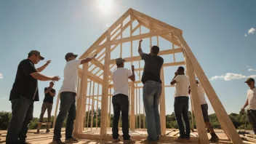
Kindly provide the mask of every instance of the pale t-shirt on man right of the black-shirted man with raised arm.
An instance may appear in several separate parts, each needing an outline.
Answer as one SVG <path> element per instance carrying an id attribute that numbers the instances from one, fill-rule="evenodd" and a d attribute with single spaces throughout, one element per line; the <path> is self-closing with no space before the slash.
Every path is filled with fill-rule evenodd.
<path id="1" fill-rule="evenodd" d="M 189 78 L 188 76 L 178 75 L 175 78 L 177 83 L 175 84 L 175 97 L 187 96 L 188 97 L 188 87 L 189 87 Z"/>

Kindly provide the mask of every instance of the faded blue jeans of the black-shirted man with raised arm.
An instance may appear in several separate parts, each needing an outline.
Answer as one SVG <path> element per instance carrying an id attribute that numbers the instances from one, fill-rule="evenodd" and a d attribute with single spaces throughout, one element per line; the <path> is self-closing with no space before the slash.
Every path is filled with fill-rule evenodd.
<path id="1" fill-rule="evenodd" d="M 161 135 L 159 116 L 161 88 L 161 84 L 156 81 L 146 81 L 143 86 L 143 103 L 148 132 L 147 140 L 158 140 L 159 135 Z"/>

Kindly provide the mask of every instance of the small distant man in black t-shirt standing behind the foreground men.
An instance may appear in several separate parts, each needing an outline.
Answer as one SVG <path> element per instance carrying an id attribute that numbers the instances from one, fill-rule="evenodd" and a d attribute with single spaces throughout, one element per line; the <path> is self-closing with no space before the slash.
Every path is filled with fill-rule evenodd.
<path id="1" fill-rule="evenodd" d="M 53 97 L 55 97 L 55 89 L 52 89 L 54 86 L 53 81 L 49 83 L 49 87 L 44 88 L 44 103 L 41 105 L 41 114 L 39 122 L 43 122 L 44 113 L 47 110 L 48 112 L 48 119 L 47 122 L 51 122 L 51 113 L 52 113 L 52 104 L 53 104 Z M 39 129 L 37 129 L 39 132 Z M 49 125 L 47 124 L 47 132 L 49 132 Z"/>

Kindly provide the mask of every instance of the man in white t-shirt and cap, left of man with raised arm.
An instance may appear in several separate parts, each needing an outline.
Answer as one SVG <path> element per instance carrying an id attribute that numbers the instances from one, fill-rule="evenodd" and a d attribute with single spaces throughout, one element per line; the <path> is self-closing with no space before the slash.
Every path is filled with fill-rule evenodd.
<path id="1" fill-rule="evenodd" d="M 129 136 L 129 100 L 128 100 L 128 79 L 135 81 L 135 68 L 132 65 L 132 72 L 124 68 L 124 61 L 121 57 L 116 59 L 116 71 L 113 71 L 113 142 L 117 143 L 119 139 L 119 117 L 121 111 L 122 131 L 124 143 L 135 143 Z"/>

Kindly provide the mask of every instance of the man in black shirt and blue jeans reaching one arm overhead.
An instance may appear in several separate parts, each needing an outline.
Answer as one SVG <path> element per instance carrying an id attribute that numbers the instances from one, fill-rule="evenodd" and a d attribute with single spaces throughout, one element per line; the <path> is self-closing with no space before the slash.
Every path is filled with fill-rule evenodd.
<path id="1" fill-rule="evenodd" d="M 144 70 L 141 81 L 143 82 L 143 103 L 147 124 L 148 137 L 142 143 L 155 143 L 161 135 L 161 124 L 159 116 L 159 103 L 161 96 L 161 67 L 164 59 L 159 54 L 159 47 L 151 47 L 149 54 L 143 53 L 141 42 L 139 41 L 138 52 L 144 60 Z"/>

